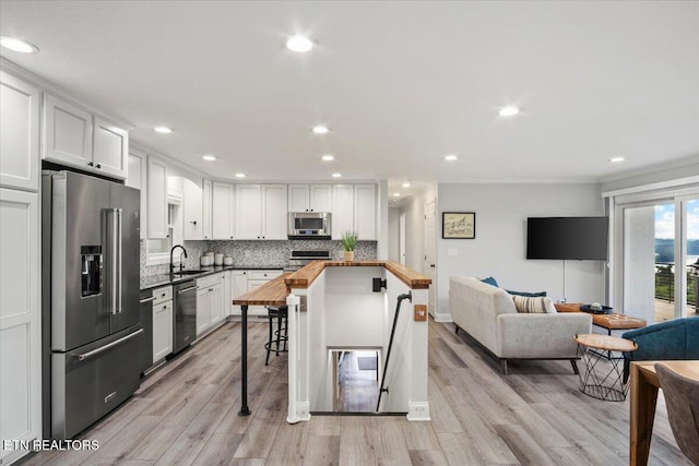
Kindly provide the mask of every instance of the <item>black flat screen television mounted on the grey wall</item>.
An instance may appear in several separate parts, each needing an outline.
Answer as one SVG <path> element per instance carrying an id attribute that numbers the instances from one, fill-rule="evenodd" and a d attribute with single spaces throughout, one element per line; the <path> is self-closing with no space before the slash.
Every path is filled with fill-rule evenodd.
<path id="1" fill-rule="evenodd" d="M 607 259 L 607 217 L 530 217 L 526 259 Z"/>

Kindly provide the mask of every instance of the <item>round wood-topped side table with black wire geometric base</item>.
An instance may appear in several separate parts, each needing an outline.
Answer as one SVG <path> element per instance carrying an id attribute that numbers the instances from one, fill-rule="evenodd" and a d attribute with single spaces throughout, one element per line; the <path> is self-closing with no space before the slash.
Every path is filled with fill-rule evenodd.
<path id="1" fill-rule="evenodd" d="M 576 335 L 578 356 L 585 365 L 580 371 L 580 391 L 593 398 L 607 402 L 626 399 L 628 385 L 624 383 L 624 358 L 609 358 L 612 351 L 635 351 L 638 345 L 616 336 L 584 333 Z M 604 353 L 592 351 L 601 349 Z"/>

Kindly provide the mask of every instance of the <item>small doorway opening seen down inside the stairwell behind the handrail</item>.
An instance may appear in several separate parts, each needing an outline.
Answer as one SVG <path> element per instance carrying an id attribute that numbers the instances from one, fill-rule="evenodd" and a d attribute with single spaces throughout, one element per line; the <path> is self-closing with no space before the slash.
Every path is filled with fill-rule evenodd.
<path id="1" fill-rule="evenodd" d="M 379 399 L 379 351 L 333 350 L 333 411 L 376 413 Z"/>

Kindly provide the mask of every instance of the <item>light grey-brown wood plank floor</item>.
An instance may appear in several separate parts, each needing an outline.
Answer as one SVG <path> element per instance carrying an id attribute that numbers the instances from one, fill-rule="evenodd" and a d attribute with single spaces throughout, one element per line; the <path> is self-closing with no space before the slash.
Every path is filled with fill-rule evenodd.
<path id="1" fill-rule="evenodd" d="M 249 405 L 240 418 L 240 327 L 227 323 L 144 380 L 81 438 L 95 452 L 46 452 L 31 465 L 626 465 L 628 402 L 578 391 L 568 361 L 496 360 L 452 324 L 429 323 L 430 422 L 317 416 L 286 423 L 286 356 L 264 366 L 266 323 L 250 324 Z M 254 343 L 259 342 L 259 343 Z M 689 464 L 659 401 L 650 464 Z"/>

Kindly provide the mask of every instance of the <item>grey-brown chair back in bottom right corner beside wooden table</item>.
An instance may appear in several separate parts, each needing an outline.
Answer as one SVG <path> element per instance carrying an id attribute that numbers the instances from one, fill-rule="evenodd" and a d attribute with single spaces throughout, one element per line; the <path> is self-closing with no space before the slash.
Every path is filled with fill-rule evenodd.
<path id="1" fill-rule="evenodd" d="M 699 465 L 699 382 L 678 374 L 662 362 L 655 365 L 655 371 L 677 445 L 694 464 Z"/>

